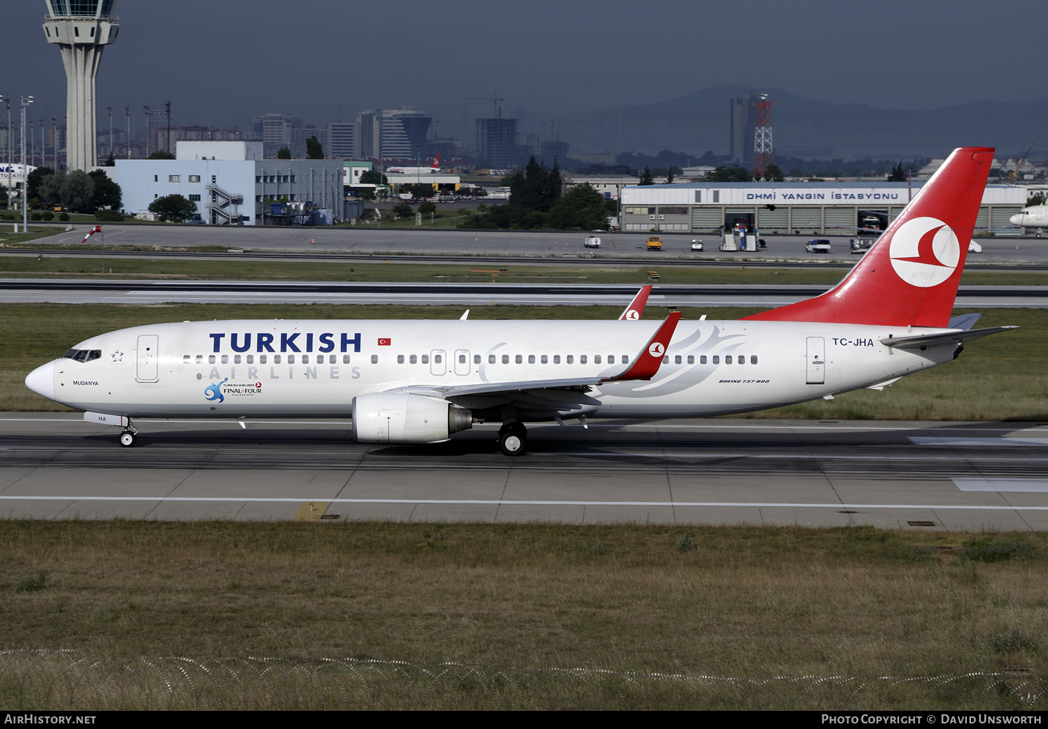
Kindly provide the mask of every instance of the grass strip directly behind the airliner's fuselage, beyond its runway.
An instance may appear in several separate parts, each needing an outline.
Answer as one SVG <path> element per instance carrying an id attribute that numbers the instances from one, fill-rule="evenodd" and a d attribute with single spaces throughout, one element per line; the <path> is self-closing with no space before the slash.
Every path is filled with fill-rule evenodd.
<path id="1" fill-rule="evenodd" d="M 464 307 L 170 304 L 0 305 L 0 411 L 61 411 L 58 403 L 29 392 L 25 375 L 90 336 L 151 323 L 214 318 L 458 318 Z M 619 307 L 471 307 L 471 318 L 611 319 Z M 685 319 L 733 319 L 759 309 L 685 308 Z M 956 313 L 969 313 L 958 309 Z M 650 307 L 647 316 L 663 315 Z M 815 420 L 1017 420 L 1048 421 L 1048 310 L 990 309 L 980 327 L 1018 325 L 1020 329 L 978 339 L 956 360 L 905 377 L 883 392 L 861 390 L 834 400 L 761 411 L 744 417 Z"/>

